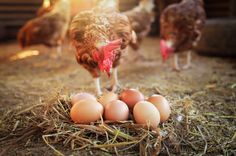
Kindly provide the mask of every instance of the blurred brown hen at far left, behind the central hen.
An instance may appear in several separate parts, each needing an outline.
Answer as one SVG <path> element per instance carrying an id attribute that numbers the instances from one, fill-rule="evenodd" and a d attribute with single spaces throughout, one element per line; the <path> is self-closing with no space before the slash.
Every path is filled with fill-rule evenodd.
<path id="1" fill-rule="evenodd" d="M 18 33 L 18 41 L 22 48 L 44 44 L 57 47 L 61 52 L 61 44 L 66 36 L 70 22 L 70 1 L 58 0 L 51 11 L 28 21 Z"/>

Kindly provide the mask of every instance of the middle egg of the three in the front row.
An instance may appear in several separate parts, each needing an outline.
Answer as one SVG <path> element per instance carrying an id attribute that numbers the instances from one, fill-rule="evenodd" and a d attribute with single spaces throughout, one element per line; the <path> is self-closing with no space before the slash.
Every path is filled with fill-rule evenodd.
<path id="1" fill-rule="evenodd" d="M 104 117 L 109 121 L 125 121 L 129 118 L 129 108 L 123 101 L 111 101 L 106 104 Z"/>

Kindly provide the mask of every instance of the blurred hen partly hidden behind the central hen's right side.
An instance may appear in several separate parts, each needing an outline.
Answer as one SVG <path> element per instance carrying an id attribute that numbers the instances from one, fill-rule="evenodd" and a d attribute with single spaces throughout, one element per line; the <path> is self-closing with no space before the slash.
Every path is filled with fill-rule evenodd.
<path id="1" fill-rule="evenodd" d="M 137 35 L 136 42 L 131 42 L 130 46 L 136 51 L 137 56 L 141 58 L 143 58 L 143 56 L 138 50 L 143 38 L 150 32 L 152 22 L 154 22 L 153 8 L 154 0 L 141 0 L 137 7 L 124 12 L 129 18 L 132 28 Z"/>

